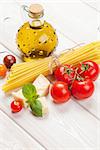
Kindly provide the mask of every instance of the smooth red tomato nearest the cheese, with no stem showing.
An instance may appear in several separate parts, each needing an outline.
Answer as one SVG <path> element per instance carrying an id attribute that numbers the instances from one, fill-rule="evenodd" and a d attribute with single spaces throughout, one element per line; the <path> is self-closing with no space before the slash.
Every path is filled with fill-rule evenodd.
<path id="1" fill-rule="evenodd" d="M 56 81 L 51 88 L 51 96 L 55 103 L 67 102 L 71 96 L 67 83 Z"/>

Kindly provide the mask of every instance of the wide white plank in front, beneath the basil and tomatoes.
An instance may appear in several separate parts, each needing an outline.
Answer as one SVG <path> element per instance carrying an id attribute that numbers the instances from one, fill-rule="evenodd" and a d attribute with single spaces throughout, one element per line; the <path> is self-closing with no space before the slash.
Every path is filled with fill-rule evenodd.
<path id="1" fill-rule="evenodd" d="M 1 48 L 7 51 L 2 46 Z M 97 130 L 100 122 L 74 101 L 55 105 L 51 97 L 48 97 L 49 115 L 42 119 L 34 117 L 27 109 L 12 114 L 9 108 L 12 98 L 1 90 L 3 83 L 4 81 L 0 80 L 1 110 L 47 149 L 85 150 L 98 146 Z"/>

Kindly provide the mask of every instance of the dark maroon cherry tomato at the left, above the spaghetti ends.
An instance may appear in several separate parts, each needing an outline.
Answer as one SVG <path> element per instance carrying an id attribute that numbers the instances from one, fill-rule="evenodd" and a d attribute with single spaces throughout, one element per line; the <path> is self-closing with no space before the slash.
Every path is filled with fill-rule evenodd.
<path id="1" fill-rule="evenodd" d="M 7 68 L 11 68 L 11 66 L 16 63 L 16 58 L 13 55 L 7 55 L 4 57 L 3 60 L 4 64 L 6 65 Z"/>

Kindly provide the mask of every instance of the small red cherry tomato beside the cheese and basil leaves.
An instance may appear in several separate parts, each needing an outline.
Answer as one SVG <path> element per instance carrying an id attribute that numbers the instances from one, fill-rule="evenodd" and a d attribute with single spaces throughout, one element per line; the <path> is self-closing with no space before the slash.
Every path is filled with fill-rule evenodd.
<path id="1" fill-rule="evenodd" d="M 22 110 L 22 103 L 20 101 L 13 101 L 11 103 L 11 110 L 13 113 L 19 112 Z"/>

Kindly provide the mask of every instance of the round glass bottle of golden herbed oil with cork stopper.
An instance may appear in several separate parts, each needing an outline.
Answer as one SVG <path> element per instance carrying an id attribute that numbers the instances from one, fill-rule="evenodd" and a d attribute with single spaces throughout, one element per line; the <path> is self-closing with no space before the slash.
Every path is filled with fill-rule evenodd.
<path id="1" fill-rule="evenodd" d="M 16 42 L 24 61 L 49 56 L 56 48 L 58 38 L 55 29 L 44 21 L 44 9 L 40 4 L 28 8 L 29 21 L 18 30 Z"/>

